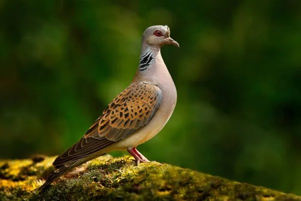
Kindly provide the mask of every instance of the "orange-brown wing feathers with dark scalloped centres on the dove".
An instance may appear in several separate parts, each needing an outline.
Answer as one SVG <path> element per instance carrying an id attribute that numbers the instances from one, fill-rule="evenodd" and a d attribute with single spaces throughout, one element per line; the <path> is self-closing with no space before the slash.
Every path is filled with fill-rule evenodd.
<path id="1" fill-rule="evenodd" d="M 145 82 L 130 85 L 112 100 L 84 137 L 105 136 L 114 142 L 124 139 L 145 126 L 161 102 L 162 91 L 158 86 Z"/>

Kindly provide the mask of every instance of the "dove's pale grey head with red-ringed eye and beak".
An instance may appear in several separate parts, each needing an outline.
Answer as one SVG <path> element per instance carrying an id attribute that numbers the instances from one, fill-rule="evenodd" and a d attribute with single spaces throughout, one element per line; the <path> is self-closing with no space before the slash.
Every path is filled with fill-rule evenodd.
<path id="1" fill-rule="evenodd" d="M 170 29 L 167 25 L 156 25 L 148 27 L 142 36 L 142 43 L 146 43 L 151 46 L 162 47 L 165 44 L 172 44 L 180 47 L 174 39 L 170 37 Z"/>

